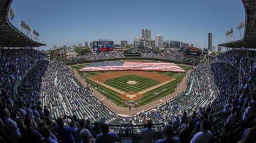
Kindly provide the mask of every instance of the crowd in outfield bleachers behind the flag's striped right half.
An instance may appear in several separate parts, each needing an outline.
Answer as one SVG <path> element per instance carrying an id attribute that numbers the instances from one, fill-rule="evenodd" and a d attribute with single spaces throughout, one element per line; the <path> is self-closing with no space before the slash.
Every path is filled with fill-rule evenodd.
<path id="1" fill-rule="evenodd" d="M 154 58 L 161 60 L 171 60 L 171 61 L 182 61 L 184 55 L 179 52 L 164 52 L 160 54 L 156 53 L 142 53 L 142 58 Z"/>

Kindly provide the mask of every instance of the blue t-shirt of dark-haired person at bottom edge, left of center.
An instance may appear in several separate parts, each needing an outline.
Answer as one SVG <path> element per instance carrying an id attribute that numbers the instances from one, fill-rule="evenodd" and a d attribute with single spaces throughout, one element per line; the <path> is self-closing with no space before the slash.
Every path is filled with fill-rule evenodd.
<path id="1" fill-rule="evenodd" d="M 109 132 L 107 134 L 98 134 L 95 143 L 114 143 L 119 140 L 119 137 L 116 133 Z"/>

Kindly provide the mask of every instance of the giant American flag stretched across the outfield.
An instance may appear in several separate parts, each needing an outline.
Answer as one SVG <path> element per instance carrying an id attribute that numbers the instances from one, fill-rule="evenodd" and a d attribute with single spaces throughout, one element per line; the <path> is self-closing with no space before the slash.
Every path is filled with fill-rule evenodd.
<path id="1" fill-rule="evenodd" d="M 116 61 L 116 62 L 96 62 L 91 63 L 80 69 L 83 71 L 114 71 L 114 70 L 133 70 L 133 71 L 172 71 L 185 72 L 184 69 L 175 63 L 169 62 L 138 62 L 138 61 Z"/>

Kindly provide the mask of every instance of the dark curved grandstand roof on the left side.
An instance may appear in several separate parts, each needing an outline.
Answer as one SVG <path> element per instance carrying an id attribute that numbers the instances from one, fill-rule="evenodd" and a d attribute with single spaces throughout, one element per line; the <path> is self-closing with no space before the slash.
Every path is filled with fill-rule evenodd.
<path id="1" fill-rule="evenodd" d="M 12 0 L 0 1 L 0 46 L 1 47 L 39 47 L 45 44 L 32 40 L 11 24 L 8 11 Z"/>

